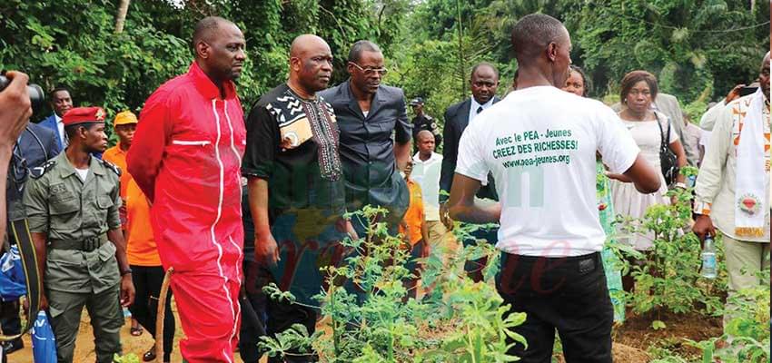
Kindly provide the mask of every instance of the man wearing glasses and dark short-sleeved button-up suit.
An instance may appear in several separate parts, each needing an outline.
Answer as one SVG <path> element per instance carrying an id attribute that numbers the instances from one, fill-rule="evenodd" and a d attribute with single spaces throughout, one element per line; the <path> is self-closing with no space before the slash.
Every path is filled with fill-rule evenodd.
<path id="1" fill-rule="evenodd" d="M 412 126 L 402 90 L 381 84 L 383 64 L 378 45 L 359 41 L 349 52 L 351 78 L 320 94 L 332 104 L 341 132 L 348 211 L 368 204 L 386 208 L 390 231 L 396 232 L 410 203 L 407 184 L 397 171 L 410 159 Z M 354 217 L 351 222 L 364 236 L 364 221 Z"/>

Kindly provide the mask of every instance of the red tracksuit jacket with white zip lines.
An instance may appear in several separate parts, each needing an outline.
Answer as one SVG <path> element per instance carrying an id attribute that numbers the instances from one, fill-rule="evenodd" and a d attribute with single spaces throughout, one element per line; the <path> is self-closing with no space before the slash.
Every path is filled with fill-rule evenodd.
<path id="1" fill-rule="evenodd" d="M 193 62 L 147 100 L 127 156 L 128 170 L 153 202 L 163 268 L 241 280 L 242 104 L 225 98 Z"/>

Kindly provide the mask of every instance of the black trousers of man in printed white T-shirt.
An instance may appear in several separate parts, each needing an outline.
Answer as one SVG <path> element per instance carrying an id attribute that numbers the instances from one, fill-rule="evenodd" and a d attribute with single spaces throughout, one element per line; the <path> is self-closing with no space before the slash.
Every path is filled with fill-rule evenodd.
<path id="1" fill-rule="evenodd" d="M 610 363 L 614 310 L 600 253 L 544 258 L 502 252 L 496 288 L 511 312 L 525 312 L 514 331 L 526 338 L 510 355 L 549 363 L 558 330 L 568 363 Z M 510 341 L 511 343 L 512 341 Z"/>

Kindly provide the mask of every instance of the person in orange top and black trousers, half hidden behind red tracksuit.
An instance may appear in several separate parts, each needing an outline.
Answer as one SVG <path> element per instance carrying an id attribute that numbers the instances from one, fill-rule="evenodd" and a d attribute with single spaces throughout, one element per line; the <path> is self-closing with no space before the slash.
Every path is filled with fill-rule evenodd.
<path id="1" fill-rule="evenodd" d="M 134 179 L 129 179 L 124 190 L 128 217 L 125 225 L 126 255 L 133 271 L 132 280 L 137 291 L 134 304 L 129 307 L 129 310 L 132 312 L 132 317 L 155 337 L 155 319 L 163 283 L 163 267 L 153 239 L 150 203 Z M 163 362 L 170 361 L 172 355 L 175 326 L 171 299 L 170 291 L 166 295 L 166 312 L 163 316 Z M 144 353 L 143 360 L 148 362 L 155 358 L 153 346 Z"/>

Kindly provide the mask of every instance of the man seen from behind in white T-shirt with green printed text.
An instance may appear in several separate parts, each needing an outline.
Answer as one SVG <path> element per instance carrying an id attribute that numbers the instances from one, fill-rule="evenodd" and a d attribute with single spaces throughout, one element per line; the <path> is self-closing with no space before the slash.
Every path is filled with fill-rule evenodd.
<path id="1" fill-rule="evenodd" d="M 566 360 L 611 362 L 613 310 L 599 251 L 606 235 L 596 201 L 596 152 L 610 176 L 638 191 L 659 189 L 609 107 L 562 92 L 570 37 L 559 20 L 527 15 L 512 31 L 518 90 L 481 113 L 461 136 L 450 217 L 500 222 L 497 289 L 510 312 L 528 318 L 515 332 L 528 341 L 509 354 L 549 361 L 555 329 Z M 475 204 L 492 172 L 500 203 Z"/>

